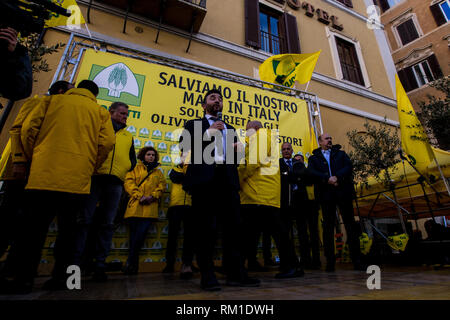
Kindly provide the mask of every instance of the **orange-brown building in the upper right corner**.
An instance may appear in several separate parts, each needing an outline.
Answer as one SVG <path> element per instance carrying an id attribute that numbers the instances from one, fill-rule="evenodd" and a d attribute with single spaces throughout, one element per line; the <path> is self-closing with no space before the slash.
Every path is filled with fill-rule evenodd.
<path id="1" fill-rule="evenodd" d="M 377 0 L 402 84 L 417 109 L 430 82 L 450 74 L 450 1 Z"/>

